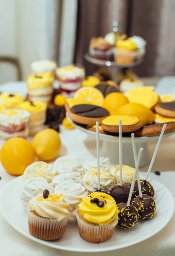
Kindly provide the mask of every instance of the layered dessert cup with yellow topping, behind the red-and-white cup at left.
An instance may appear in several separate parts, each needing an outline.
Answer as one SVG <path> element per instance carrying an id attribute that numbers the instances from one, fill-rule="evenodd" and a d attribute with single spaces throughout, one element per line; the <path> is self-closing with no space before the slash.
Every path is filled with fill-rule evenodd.
<path id="1" fill-rule="evenodd" d="M 17 105 L 18 109 L 26 110 L 30 113 L 29 134 L 34 135 L 41 131 L 46 121 L 47 105 L 44 102 L 23 101 Z"/>

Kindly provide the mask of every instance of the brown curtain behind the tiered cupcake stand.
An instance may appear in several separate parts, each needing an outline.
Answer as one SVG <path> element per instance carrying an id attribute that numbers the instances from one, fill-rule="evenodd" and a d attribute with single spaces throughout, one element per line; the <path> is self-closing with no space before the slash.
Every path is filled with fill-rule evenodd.
<path id="1" fill-rule="evenodd" d="M 147 41 L 143 64 L 132 70 L 139 76 L 175 75 L 175 0 L 79 0 L 75 62 L 92 74 L 97 66 L 83 59 L 89 41 L 112 30 L 140 35 Z M 129 31 L 127 31 L 129 23 Z"/>

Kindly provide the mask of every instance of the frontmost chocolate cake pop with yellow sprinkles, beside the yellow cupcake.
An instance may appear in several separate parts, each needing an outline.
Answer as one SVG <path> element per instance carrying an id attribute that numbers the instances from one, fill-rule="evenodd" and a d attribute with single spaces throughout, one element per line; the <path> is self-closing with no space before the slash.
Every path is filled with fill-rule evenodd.
<path id="1" fill-rule="evenodd" d="M 127 203 L 120 203 L 117 205 L 119 209 L 118 213 L 118 224 L 120 228 L 131 228 L 138 223 L 138 210 L 135 206 Z"/>

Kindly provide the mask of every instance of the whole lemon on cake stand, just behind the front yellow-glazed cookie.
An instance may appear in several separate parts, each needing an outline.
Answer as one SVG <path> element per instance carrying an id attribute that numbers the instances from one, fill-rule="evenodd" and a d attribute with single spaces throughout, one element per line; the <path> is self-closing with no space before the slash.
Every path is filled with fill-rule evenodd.
<path id="1" fill-rule="evenodd" d="M 136 116 L 142 125 L 151 125 L 155 120 L 155 115 L 149 108 L 139 103 L 128 103 L 118 110 L 118 115 Z"/>

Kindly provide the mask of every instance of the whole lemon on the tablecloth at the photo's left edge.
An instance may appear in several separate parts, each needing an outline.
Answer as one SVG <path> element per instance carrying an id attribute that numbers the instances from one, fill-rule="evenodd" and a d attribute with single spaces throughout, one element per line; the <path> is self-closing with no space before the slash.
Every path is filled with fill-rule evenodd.
<path id="1" fill-rule="evenodd" d="M 0 151 L 0 161 L 12 175 L 23 175 L 26 167 L 34 162 L 35 156 L 32 145 L 23 138 L 7 140 Z"/>

